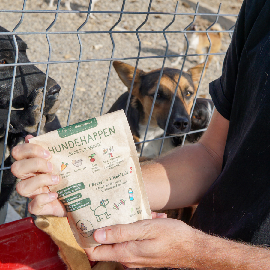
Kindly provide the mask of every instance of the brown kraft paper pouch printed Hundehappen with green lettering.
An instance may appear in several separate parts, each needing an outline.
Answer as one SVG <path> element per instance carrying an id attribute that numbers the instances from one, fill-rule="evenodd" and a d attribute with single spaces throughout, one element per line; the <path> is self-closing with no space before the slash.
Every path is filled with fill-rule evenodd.
<path id="1" fill-rule="evenodd" d="M 32 138 L 49 149 L 50 186 L 67 209 L 82 248 L 100 245 L 93 232 L 105 226 L 151 219 L 137 150 L 123 110 L 98 116 Z M 64 232 L 63 232 L 64 233 Z"/>

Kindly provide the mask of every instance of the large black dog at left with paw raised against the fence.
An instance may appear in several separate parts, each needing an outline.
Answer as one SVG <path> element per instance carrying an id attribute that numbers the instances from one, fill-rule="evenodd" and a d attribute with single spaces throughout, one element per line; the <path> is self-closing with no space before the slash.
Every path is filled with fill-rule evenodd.
<path id="1" fill-rule="evenodd" d="M 0 26 L 0 32 L 9 32 Z M 19 54 L 18 63 L 30 62 L 26 55 L 26 43 L 16 36 Z M 4 135 L 7 127 L 8 107 L 13 77 L 13 67 L 5 64 L 15 63 L 15 44 L 12 35 L 0 35 L 0 144 L 4 142 Z M 12 110 L 10 116 L 7 150 L 13 146 L 28 132 L 37 131 L 41 119 L 41 102 L 45 74 L 34 65 L 17 66 L 15 85 L 13 92 L 12 107 L 19 110 Z M 60 106 L 58 95 L 60 86 L 48 77 L 44 111 L 41 128 L 46 122 L 55 119 L 55 113 Z M 58 120 L 55 120 L 59 128 Z M 5 153 L 3 154 L 5 155 Z M 11 156 L 5 160 L 5 167 L 12 164 Z M 10 170 L 4 170 L 0 196 L 0 209 L 7 202 L 16 182 L 15 176 Z"/>

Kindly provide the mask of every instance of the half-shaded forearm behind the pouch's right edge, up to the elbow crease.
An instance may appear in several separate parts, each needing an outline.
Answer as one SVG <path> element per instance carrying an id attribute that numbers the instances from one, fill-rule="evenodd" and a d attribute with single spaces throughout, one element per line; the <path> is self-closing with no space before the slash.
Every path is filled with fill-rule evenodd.
<path id="1" fill-rule="evenodd" d="M 199 143 L 141 164 L 152 210 L 194 205 L 220 173 L 221 166 Z"/>

